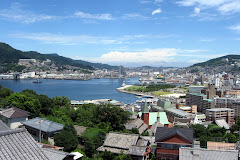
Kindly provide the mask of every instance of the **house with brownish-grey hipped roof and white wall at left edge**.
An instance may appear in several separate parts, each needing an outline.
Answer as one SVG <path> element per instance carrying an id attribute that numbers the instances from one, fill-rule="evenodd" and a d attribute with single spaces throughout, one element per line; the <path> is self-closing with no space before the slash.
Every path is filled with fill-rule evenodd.
<path id="1" fill-rule="evenodd" d="M 0 112 L 2 121 L 11 129 L 18 128 L 22 121 L 28 120 L 29 112 L 12 107 Z"/>

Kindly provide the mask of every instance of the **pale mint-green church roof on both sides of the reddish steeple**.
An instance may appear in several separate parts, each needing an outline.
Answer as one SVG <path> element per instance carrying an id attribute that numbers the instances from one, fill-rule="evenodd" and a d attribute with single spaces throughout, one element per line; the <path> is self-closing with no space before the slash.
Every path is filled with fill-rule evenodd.
<path id="1" fill-rule="evenodd" d="M 166 112 L 149 112 L 149 125 L 153 125 L 157 122 L 158 113 L 160 115 L 160 123 L 169 124 Z M 138 112 L 138 115 L 141 117 L 142 112 Z"/>

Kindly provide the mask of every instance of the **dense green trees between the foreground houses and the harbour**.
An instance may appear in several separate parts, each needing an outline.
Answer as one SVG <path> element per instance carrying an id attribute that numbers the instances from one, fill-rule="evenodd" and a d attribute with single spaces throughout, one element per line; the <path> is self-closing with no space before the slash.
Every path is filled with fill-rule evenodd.
<path id="1" fill-rule="evenodd" d="M 0 85 L 0 108 L 7 107 L 26 110 L 31 113 L 30 118 L 39 116 L 64 124 L 62 132 L 54 136 L 56 145 L 70 152 L 80 144 L 83 146 L 84 154 L 93 159 L 94 156 L 101 158 L 102 154 L 98 155 L 96 149 L 103 144 L 106 134 L 110 131 L 125 132 L 123 124 L 130 117 L 128 111 L 112 105 L 86 104 L 74 108 L 70 105 L 70 100 L 64 96 L 49 98 L 32 90 L 14 93 Z M 81 137 L 77 137 L 73 125 L 85 126 L 87 129 Z"/>

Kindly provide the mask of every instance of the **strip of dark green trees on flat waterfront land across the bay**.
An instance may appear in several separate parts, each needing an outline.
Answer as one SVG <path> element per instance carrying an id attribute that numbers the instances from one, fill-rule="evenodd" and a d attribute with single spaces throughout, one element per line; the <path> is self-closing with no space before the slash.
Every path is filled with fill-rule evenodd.
<path id="1" fill-rule="evenodd" d="M 130 92 L 154 92 L 159 90 L 166 90 L 169 88 L 175 88 L 176 86 L 170 84 L 151 84 L 147 86 L 131 86 L 126 88 L 125 90 Z"/>

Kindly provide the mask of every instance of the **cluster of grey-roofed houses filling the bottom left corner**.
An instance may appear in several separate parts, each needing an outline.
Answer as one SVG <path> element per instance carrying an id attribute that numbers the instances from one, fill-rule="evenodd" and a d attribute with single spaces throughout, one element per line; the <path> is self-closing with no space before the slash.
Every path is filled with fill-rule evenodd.
<path id="1" fill-rule="evenodd" d="M 63 125 L 43 118 L 28 119 L 29 113 L 8 108 L 0 111 L 0 159 L 81 160 L 78 152 L 67 153 L 54 146 L 53 136 Z M 41 143 L 45 139 L 50 144 Z"/>

